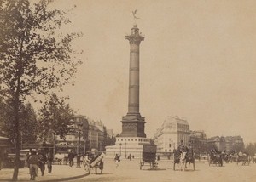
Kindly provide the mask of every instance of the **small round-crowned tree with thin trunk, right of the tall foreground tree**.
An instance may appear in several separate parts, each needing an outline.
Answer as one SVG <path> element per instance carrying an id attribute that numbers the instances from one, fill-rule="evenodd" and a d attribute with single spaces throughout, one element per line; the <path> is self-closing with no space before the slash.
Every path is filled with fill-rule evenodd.
<path id="1" fill-rule="evenodd" d="M 65 103 L 64 98 L 58 98 L 56 94 L 51 94 L 49 100 L 39 110 L 40 128 L 43 129 L 41 138 L 51 133 L 54 143 L 55 154 L 55 136 L 60 135 L 61 139 L 70 131 L 73 124 L 73 110 Z"/>

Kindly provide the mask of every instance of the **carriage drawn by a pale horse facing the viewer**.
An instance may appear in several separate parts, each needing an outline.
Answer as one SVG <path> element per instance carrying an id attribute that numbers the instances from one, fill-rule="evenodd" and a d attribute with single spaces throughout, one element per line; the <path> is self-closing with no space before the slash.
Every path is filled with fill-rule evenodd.
<path id="1" fill-rule="evenodd" d="M 187 168 L 187 163 L 193 165 L 193 170 L 195 170 L 195 155 L 192 150 L 187 150 L 187 151 L 179 151 L 179 150 L 174 150 L 173 151 L 173 170 L 175 171 L 175 166 L 177 164 L 180 165 L 181 170 L 185 170 Z"/>

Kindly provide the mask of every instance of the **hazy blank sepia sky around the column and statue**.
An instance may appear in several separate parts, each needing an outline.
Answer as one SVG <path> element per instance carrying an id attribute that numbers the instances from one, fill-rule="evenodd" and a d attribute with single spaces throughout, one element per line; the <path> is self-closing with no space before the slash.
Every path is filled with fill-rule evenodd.
<path id="1" fill-rule="evenodd" d="M 241 135 L 256 141 L 256 1 L 56 0 L 67 31 L 82 31 L 76 85 L 65 88 L 79 114 L 121 131 L 128 111 L 129 42 L 134 24 L 140 46 L 140 113 L 152 137 L 167 116 L 186 118 L 207 136 Z"/>

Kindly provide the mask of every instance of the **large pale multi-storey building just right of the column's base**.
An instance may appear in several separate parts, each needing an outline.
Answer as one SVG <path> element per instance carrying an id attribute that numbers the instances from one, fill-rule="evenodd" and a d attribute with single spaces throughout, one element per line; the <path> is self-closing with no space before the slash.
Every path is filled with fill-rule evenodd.
<path id="1" fill-rule="evenodd" d="M 180 117 L 167 117 L 154 134 L 154 144 L 158 152 L 172 152 L 177 149 L 180 141 L 189 144 L 189 123 Z"/>

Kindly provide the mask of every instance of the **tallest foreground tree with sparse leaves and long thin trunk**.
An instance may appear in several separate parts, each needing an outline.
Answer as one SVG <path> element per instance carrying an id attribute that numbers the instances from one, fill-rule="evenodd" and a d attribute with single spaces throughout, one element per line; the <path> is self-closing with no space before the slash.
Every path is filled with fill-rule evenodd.
<path id="1" fill-rule="evenodd" d="M 48 9 L 46 0 L 0 0 L 0 96 L 9 100 L 14 126 L 15 170 L 20 158 L 20 107 L 27 96 L 48 94 L 51 88 L 73 83 L 81 61 L 72 47 L 79 33 L 56 35 L 70 23 L 66 12 Z"/>

